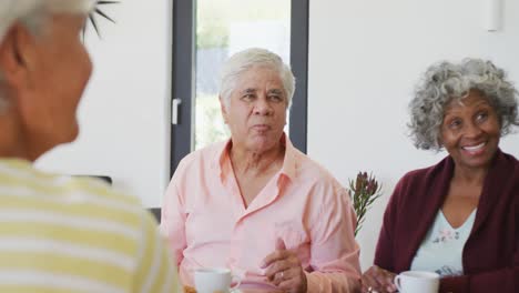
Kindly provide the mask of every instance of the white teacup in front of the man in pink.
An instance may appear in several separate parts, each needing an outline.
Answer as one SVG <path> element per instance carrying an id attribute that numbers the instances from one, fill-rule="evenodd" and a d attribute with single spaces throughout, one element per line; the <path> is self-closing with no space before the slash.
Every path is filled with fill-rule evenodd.
<path id="1" fill-rule="evenodd" d="M 194 272 L 195 289 L 197 293 L 228 293 L 240 286 L 238 276 L 231 274 L 224 267 L 197 269 Z M 231 286 L 232 282 L 234 286 Z"/>

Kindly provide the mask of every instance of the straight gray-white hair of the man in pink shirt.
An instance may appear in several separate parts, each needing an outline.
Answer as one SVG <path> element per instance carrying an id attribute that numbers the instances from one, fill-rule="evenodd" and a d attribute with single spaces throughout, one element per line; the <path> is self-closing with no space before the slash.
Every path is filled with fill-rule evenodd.
<path id="1" fill-rule="evenodd" d="M 220 73 L 220 97 L 227 108 L 231 94 L 237 87 L 238 78 L 254 65 L 268 67 L 279 73 L 287 99 L 287 109 L 292 104 L 295 90 L 295 78 L 289 65 L 279 55 L 260 48 L 251 48 L 233 54 L 222 67 Z"/>

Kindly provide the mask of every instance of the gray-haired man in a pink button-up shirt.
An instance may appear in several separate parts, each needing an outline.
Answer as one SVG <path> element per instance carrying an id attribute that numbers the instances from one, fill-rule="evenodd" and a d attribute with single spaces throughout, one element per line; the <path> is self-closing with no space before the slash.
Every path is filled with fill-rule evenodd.
<path id="1" fill-rule="evenodd" d="M 294 89 L 288 65 L 267 50 L 224 64 L 220 101 L 231 138 L 184 158 L 164 199 L 161 228 L 185 285 L 197 269 L 226 266 L 241 290 L 358 289 L 348 193 L 283 131 Z"/>

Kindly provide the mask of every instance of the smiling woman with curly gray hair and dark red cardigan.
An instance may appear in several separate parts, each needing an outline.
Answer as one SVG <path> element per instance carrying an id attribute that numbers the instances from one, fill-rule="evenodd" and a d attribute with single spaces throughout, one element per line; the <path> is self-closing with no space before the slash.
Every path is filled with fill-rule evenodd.
<path id="1" fill-rule="evenodd" d="M 519 125 L 517 93 L 490 61 L 426 71 L 409 104 L 410 137 L 449 155 L 398 182 L 365 292 L 395 292 L 395 274 L 408 270 L 437 273 L 439 292 L 517 292 L 519 161 L 499 149 Z"/>

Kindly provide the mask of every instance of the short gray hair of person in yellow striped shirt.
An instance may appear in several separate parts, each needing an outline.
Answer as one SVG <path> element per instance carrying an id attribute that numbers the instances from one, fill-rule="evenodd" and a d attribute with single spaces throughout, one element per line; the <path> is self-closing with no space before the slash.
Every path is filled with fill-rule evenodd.
<path id="1" fill-rule="evenodd" d="M 54 13 L 89 13 L 95 0 L 0 0 L 0 43 L 16 23 L 26 26 L 38 36 L 44 29 L 44 20 Z M 0 69 L 0 84 L 3 83 Z M 8 105 L 6 93 L 0 92 L 0 112 Z"/>

